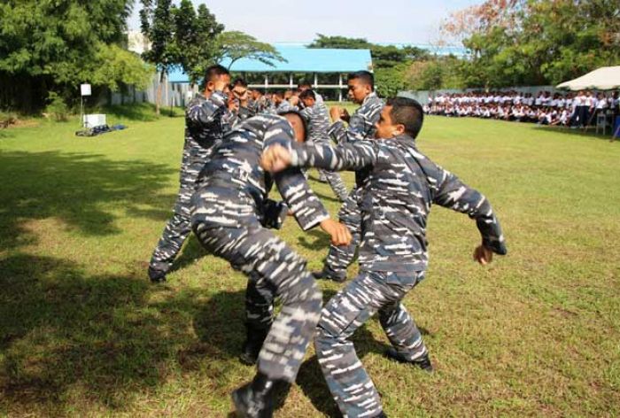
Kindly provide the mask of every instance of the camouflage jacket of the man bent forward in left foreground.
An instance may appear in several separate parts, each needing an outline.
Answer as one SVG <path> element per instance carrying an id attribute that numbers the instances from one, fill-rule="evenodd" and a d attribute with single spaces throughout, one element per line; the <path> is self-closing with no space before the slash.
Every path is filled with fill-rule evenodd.
<path id="1" fill-rule="evenodd" d="M 260 167 L 260 155 L 265 147 L 273 143 L 288 146 L 293 137 L 286 119 L 267 114 L 254 116 L 229 132 L 213 149 L 209 162 L 200 173 L 199 189 L 218 188 L 222 193 L 236 194 L 247 205 L 230 208 L 215 199 L 205 209 L 213 216 L 207 216 L 205 220 L 222 227 L 237 228 L 255 217 L 260 218 L 274 182 L 301 228 L 314 228 L 328 219 L 329 213 L 298 168 L 285 170 L 272 178 Z M 248 208 L 253 213 L 245 213 Z"/>

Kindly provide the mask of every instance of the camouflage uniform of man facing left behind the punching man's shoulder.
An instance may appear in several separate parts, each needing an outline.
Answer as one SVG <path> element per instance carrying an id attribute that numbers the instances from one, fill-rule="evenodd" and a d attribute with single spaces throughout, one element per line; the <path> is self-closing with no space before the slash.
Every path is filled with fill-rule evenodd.
<path id="1" fill-rule="evenodd" d="M 351 115 L 349 128 L 345 128 L 342 121 L 337 121 L 329 128 L 329 135 L 336 143 L 351 143 L 374 138 L 376 134 L 375 125 L 379 121 L 383 109 L 383 100 L 377 97 L 376 93 L 370 93 L 360 107 Z M 329 252 L 323 267 L 324 272 L 338 280 L 346 278 L 346 268 L 353 263 L 355 251 L 360 244 L 360 194 L 356 191 L 356 188 L 363 181 L 363 177 L 363 171 L 355 173 L 356 187 L 351 190 L 349 196 L 345 199 L 345 203 L 338 211 L 338 220 L 349 228 L 353 236 L 351 244 L 342 246 L 329 245 Z"/>

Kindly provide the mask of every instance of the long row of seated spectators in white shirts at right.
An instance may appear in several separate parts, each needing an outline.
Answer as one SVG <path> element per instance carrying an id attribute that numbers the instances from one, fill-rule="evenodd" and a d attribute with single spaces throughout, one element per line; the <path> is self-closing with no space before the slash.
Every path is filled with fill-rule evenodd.
<path id="1" fill-rule="evenodd" d="M 620 113 L 618 92 L 579 91 L 577 93 L 539 94 L 515 90 L 440 94 L 429 97 L 424 112 L 440 116 L 470 116 L 484 119 L 531 122 L 540 125 L 585 127 L 596 123 L 596 115 L 606 112 L 613 116 Z"/>

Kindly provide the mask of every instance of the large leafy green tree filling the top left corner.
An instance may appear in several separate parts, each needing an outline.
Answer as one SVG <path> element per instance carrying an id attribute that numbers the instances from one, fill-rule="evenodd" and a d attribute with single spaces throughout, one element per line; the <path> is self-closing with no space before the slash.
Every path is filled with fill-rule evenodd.
<path id="1" fill-rule="evenodd" d="M 131 0 L 0 3 L 0 106 L 33 112 L 44 107 L 50 91 L 71 101 L 78 97 L 81 82 L 90 81 L 97 88 L 93 72 L 107 64 L 105 50 L 120 49 L 125 43 L 132 4 Z M 127 66 L 111 73 L 114 86 L 135 80 L 133 70 L 142 65 L 133 55 L 122 59 Z"/>

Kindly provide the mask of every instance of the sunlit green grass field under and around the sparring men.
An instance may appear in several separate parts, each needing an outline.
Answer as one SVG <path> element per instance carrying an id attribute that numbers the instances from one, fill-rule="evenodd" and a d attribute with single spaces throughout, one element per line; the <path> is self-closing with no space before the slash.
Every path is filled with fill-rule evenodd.
<path id="1" fill-rule="evenodd" d="M 193 237 L 166 285 L 145 276 L 174 203 L 183 120 L 109 118 L 128 130 L 0 130 L 0 415 L 227 416 L 254 371 L 236 360 L 244 276 Z M 386 413 L 620 414 L 620 143 L 429 118 L 419 146 L 489 197 L 509 253 L 477 266 L 474 222 L 434 209 L 430 271 L 405 304 L 436 373 L 385 360 L 377 321 L 355 339 Z M 290 220 L 281 235 L 322 266 L 321 232 Z M 338 289 L 321 286 L 326 298 Z M 311 349 L 276 416 L 334 414 Z"/>

